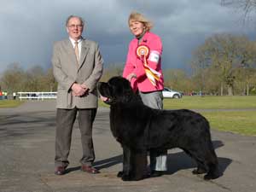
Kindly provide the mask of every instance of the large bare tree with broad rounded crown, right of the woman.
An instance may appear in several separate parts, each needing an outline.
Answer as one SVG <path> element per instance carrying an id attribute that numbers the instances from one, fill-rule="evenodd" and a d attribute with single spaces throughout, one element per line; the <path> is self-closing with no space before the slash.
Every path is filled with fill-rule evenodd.
<path id="1" fill-rule="evenodd" d="M 220 84 L 221 96 L 224 95 L 224 86 L 227 86 L 228 95 L 233 95 L 236 69 L 255 63 L 254 47 L 255 44 L 243 36 L 214 35 L 196 49 L 191 65 L 202 81 L 207 79 L 209 83 L 209 78 L 212 78 L 211 81 Z"/>

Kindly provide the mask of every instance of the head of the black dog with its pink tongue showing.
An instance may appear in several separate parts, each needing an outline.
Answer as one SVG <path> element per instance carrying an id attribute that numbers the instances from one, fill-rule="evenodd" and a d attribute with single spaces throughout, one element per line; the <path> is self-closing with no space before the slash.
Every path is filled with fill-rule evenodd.
<path id="1" fill-rule="evenodd" d="M 107 83 L 99 82 L 98 90 L 103 102 L 109 105 L 118 102 L 130 102 L 134 96 L 130 82 L 122 77 L 113 77 Z"/>

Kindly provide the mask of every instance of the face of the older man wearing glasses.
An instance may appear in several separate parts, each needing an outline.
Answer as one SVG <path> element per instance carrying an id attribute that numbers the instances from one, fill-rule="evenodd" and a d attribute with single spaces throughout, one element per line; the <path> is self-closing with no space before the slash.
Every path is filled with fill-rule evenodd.
<path id="1" fill-rule="evenodd" d="M 82 36 L 84 26 L 82 25 L 81 20 L 77 17 L 73 17 L 68 21 L 67 24 L 67 33 L 70 38 L 74 40 L 79 40 Z"/>

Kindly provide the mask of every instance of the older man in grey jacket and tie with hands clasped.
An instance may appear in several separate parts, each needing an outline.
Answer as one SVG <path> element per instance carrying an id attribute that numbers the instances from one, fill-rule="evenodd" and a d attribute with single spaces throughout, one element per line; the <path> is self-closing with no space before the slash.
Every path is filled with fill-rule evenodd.
<path id="1" fill-rule="evenodd" d="M 75 15 L 67 18 L 69 38 L 54 44 L 52 65 L 58 82 L 55 174 L 65 173 L 69 164 L 73 123 L 78 113 L 83 156 L 81 170 L 98 173 L 92 166 L 95 153 L 92 141 L 92 124 L 96 116 L 96 84 L 102 76 L 102 55 L 98 44 L 82 37 L 84 20 Z"/>

